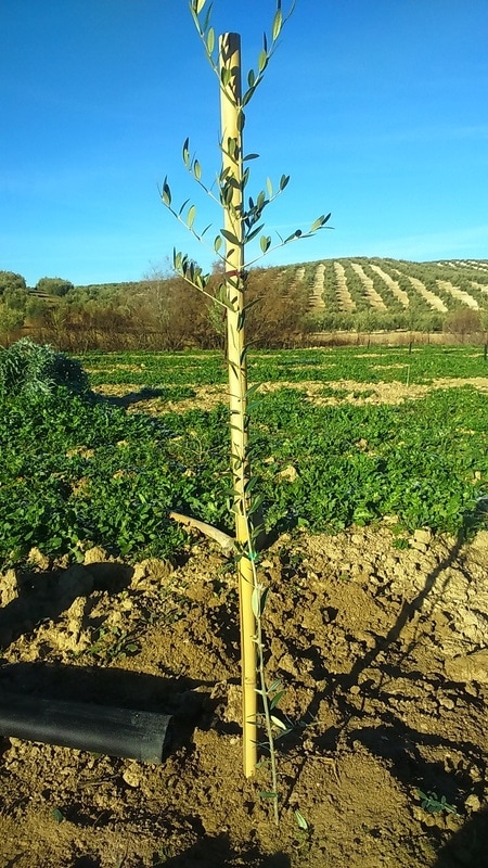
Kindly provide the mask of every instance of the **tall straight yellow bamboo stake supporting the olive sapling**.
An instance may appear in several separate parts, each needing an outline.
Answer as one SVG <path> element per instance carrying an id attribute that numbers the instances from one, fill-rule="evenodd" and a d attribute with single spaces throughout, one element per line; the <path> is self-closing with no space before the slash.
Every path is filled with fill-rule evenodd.
<path id="1" fill-rule="evenodd" d="M 243 113 L 241 106 L 241 38 L 223 34 L 219 40 L 222 174 L 221 193 L 226 238 L 226 297 L 228 304 L 228 362 L 230 439 L 235 513 L 235 538 L 241 557 L 237 579 L 241 617 L 241 667 L 244 775 L 257 763 L 256 617 L 253 612 L 254 572 L 246 484 L 249 480 L 247 435 L 247 369 L 244 329 Z M 230 238 L 229 238 L 230 237 Z"/>

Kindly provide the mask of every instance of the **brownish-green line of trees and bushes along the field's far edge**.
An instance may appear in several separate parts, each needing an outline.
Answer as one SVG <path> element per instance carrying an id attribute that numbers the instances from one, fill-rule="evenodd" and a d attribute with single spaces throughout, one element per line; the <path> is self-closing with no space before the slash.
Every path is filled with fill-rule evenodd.
<path id="1" fill-rule="evenodd" d="M 221 272 L 214 268 L 209 291 L 217 293 Z M 330 307 L 310 310 L 310 284 L 290 268 L 256 268 L 246 278 L 248 333 L 255 346 L 287 347 L 313 343 L 318 332 L 451 332 L 486 343 L 488 314 L 461 303 L 448 314 L 412 303 L 387 310 L 354 312 Z M 438 289 L 437 289 L 438 292 Z M 325 290 L 326 294 L 326 290 Z M 35 288 L 22 275 L 0 271 L 0 344 L 28 334 L 63 352 L 89 349 L 223 348 L 226 323 L 210 299 L 195 304 L 195 290 L 172 273 L 154 270 L 143 280 L 75 286 L 63 278 L 41 278 Z M 224 316 L 224 315 L 223 315 Z"/>

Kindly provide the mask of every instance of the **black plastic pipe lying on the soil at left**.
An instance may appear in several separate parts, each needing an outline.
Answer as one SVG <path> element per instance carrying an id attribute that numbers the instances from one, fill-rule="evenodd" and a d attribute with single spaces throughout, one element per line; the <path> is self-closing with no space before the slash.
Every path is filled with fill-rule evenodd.
<path id="1" fill-rule="evenodd" d="M 0 735 L 160 763 L 170 715 L 0 692 Z"/>

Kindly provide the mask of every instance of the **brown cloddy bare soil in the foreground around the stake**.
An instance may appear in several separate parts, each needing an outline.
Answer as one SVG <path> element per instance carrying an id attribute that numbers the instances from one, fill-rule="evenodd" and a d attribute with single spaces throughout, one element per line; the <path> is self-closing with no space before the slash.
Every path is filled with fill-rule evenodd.
<path id="1" fill-rule="evenodd" d="M 388 524 L 264 552 L 267 669 L 293 724 L 277 828 L 266 768 L 241 771 L 237 597 L 216 544 L 136 566 L 33 551 L 0 578 L 3 706 L 23 691 L 172 719 L 160 764 L 1 737 L 1 868 L 487 866 L 487 562 L 486 531 L 399 547 Z"/>

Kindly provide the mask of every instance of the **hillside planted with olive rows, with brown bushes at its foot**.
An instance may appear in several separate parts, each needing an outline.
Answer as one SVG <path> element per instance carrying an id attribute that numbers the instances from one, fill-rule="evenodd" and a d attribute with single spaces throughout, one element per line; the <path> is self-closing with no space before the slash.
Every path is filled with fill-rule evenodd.
<path id="1" fill-rule="evenodd" d="M 220 281 L 218 272 L 211 276 L 210 294 Z M 61 349 L 223 347 L 223 321 L 211 302 L 171 275 L 29 299 L 24 331 Z M 390 341 L 397 332 L 418 332 L 478 342 L 488 329 L 488 259 L 349 257 L 255 268 L 247 299 L 249 335 L 260 347 L 320 343 L 331 333 L 347 342 L 372 332 Z"/>

